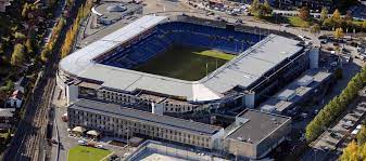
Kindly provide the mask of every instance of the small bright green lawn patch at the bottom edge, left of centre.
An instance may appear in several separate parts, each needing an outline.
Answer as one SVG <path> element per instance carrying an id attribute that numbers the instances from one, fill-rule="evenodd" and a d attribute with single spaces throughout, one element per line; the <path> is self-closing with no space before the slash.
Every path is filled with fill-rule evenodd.
<path id="1" fill-rule="evenodd" d="M 76 146 L 70 149 L 67 161 L 100 161 L 110 153 L 111 151 L 109 150 Z"/>

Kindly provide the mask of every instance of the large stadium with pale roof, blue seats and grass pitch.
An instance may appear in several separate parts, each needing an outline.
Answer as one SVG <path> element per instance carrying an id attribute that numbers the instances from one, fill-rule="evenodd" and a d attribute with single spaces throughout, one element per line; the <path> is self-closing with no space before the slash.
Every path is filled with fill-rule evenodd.
<path id="1" fill-rule="evenodd" d="M 63 58 L 58 82 L 68 105 L 88 98 L 156 112 L 253 108 L 312 59 L 300 41 L 257 29 L 146 15 Z"/>

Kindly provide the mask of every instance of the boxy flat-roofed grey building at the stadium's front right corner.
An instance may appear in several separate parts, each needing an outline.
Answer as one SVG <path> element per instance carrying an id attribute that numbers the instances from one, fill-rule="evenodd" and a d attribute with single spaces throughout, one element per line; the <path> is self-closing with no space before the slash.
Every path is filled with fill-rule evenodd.
<path id="1" fill-rule="evenodd" d="M 239 158 L 261 159 L 286 139 L 291 118 L 248 109 L 226 131 L 226 151 Z"/>

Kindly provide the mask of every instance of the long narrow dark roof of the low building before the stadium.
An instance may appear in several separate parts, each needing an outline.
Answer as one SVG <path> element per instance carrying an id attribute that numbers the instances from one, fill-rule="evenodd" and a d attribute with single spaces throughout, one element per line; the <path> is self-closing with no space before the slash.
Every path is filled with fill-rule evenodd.
<path id="1" fill-rule="evenodd" d="M 167 129 L 179 129 L 188 132 L 201 133 L 202 135 L 213 135 L 223 129 L 205 123 L 188 121 L 168 116 L 159 116 L 147 111 L 127 108 L 116 104 L 89 99 L 79 99 L 78 102 L 68 106 L 68 108 L 92 113 L 100 113 L 114 118 L 124 118 L 136 122 L 154 123 L 157 126 L 163 126 Z"/>

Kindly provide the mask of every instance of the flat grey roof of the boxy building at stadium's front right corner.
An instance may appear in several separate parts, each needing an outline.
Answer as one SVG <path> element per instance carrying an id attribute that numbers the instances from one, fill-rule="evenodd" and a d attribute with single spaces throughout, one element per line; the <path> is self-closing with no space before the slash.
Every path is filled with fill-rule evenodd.
<path id="1" fill-rule="evenodd" d="M 247 122 L 231 132 L 227 138 L 245 140 L 251 144 L 261 143 L 279 126 L 290 121 L 291 118 L 247 109 L 237 117 L 248 119 Z"/>

